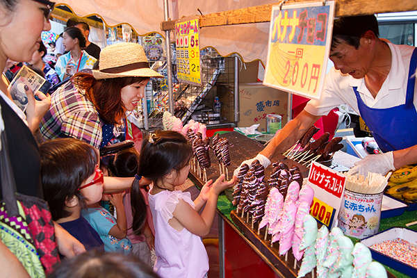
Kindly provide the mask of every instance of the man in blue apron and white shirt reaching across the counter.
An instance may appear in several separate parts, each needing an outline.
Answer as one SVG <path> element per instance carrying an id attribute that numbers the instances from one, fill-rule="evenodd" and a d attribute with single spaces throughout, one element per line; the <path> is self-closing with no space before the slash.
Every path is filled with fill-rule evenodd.
<path id="1" fill-rule="evenodd" d="M 270 158 L 294 145 L 304 132 L 332 108 L 348 104 L 368 125 L 383 154 L 366 156 L 351 173 L 379 172 L 417 163 L 417 51 L 378 38 L 374 15 L 341 17 L 334 21 L 330 59 L 319 100 L 311 100 L 284 126 L 258 156 Z"/>

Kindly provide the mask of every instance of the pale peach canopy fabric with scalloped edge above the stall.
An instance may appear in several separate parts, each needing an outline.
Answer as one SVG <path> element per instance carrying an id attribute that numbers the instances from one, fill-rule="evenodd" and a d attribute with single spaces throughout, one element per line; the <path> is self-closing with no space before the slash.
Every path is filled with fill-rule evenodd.
<path id="1" fill-rule="evenodd" d="M 163 0 L 63 0 L 79 17 L 101 16 L 109 26 L 128 23 L 140 35 L 161 31 Z M 277 0 L 168 0 L 170 19 L 248 8 Z M 207 27 L 200 30 L 200 48 L 213 47 L 220 55 L 238 53 L 245 62 L 260 59 L 266 63 L 269 23 Z M 174 33 L 170 35 L 174 42 Z"/>

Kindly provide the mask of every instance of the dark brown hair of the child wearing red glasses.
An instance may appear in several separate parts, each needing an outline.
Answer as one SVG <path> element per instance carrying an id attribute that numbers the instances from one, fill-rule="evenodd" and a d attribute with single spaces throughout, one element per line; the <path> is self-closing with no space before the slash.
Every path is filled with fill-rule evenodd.
<path id="1" fill-rule="evenodd" d="M 95 173 L 98 155 L 95 148 L 74 138 L 57 138 L 40 146 L 42 188 L 56 221 L 71 215 L 65 210 L 65 201 L 78 197 L 85 207 L 85 200 L 78 190 L 81 183 Z"/>

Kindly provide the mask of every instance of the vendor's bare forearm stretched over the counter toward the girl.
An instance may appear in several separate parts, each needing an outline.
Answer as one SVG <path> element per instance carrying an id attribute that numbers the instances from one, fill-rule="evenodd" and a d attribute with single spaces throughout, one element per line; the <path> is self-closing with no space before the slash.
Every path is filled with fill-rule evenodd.
<path id="1" fill-rule="evenodd" d="M 288 122 L 259 154 L 262 154 L 269 160 L 277 156 L 277 154 L 282 154 L 291 148 L 320 117 L 311 115 L 303 110 L 295 119 Z"/>

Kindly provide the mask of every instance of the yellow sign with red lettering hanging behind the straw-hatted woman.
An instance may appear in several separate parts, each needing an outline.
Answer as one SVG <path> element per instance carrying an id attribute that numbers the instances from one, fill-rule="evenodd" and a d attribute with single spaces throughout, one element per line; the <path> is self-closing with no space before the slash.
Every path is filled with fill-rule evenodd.
<path id="1" fill-rule="evenodd" d="M 201 85 L 198 17 L 188 17 L 175 24 L 177 78 Z"/>

